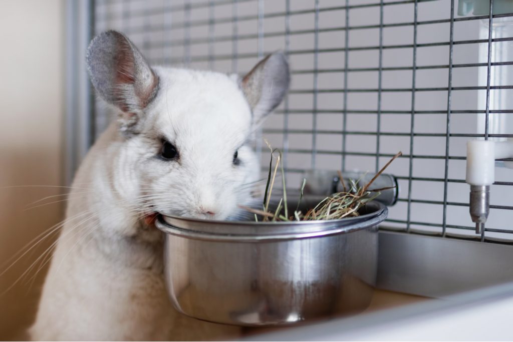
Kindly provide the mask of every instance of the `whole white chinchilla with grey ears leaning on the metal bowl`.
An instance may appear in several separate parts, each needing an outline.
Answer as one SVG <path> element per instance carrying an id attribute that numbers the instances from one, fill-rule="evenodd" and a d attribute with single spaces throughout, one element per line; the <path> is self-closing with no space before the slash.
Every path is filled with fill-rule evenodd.
<path id="1" fill-rule="evenodd" d="M 151 68 L 122 33 L 91 42 L 92 84 L 119 109 L 77 171 L 44 285 L 35 340 L 233 337 L 238 328 L 177 313 L 155 213 L 230 219 L 252 201 L 255 126 L 289 86 L 281 53 L 246 76 Z"/>

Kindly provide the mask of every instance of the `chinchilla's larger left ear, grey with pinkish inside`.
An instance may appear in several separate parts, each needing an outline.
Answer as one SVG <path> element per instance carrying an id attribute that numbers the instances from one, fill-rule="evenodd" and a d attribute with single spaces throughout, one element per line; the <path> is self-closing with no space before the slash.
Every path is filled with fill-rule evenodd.
<path id="1" fill-rule="evenodd" d="M 129 130 L 155 97 L 159 77 L 130 39 L 117 31 L 94 37 L 86 61 L 94 88 L 108 103 L 121 109 L 122 128 Z"/>

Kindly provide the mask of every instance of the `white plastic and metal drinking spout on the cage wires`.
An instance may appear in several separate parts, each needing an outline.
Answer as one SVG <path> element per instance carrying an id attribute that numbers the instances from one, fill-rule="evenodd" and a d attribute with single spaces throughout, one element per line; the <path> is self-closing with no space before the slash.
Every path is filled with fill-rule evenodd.
<path id="1" fill-rule="evenodd" d="M 467 142 L 467 176 L 470 184 L 470 217 L 476 234 L 484 231 L 490 212 L 490 185 L 495 182 L 495 160 L 513 157 L 513 142 Z"/>

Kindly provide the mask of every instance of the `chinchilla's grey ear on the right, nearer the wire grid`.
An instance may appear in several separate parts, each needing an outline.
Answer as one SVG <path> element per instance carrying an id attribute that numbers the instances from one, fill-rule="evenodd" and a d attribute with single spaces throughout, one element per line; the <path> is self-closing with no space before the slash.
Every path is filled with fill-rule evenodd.
<path id="1" fill-rule="evenodd" d="M 278 107 L 290 83 L 289 67 L 285 56 L 275 52 L 260 61 L 242 78 L 242 91 L 253 111 L 253 124 Z"/>

